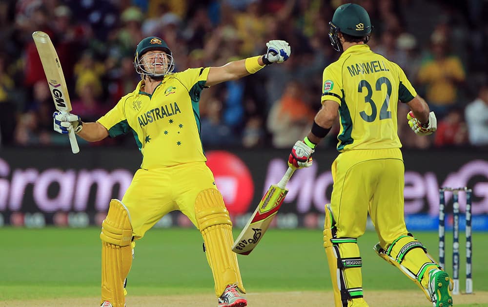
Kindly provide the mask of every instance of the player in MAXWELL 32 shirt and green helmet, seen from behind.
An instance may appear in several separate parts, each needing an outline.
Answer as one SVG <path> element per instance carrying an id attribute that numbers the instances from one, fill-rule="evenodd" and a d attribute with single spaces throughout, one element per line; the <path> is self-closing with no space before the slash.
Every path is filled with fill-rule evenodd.
<path id="1" fill-rule="evenodd" d="M 293 146 L 288 162 L 297 168 L 310 166 L 316 145 L 339 114 L 340 154 L 331 167 L 334 186 L 324 226 L 335 307 L 368 306 L 357 245 L 368 212 L 380 241 L 374 247 L 378 255 L 414 281 L 433 306 L 452 306 L 449 276 L 405 225 L 398 101 L 410 107 L 407 119 L 416 134 L 432 134 L 436 117 L 402 69 L 366 45 L 372 27 L 363 7 L 339 6 L 329 26 L 332 46 L 342 55 L 325 68 L 322 108 L 310 133 Z"/>

